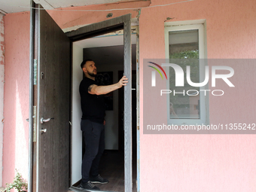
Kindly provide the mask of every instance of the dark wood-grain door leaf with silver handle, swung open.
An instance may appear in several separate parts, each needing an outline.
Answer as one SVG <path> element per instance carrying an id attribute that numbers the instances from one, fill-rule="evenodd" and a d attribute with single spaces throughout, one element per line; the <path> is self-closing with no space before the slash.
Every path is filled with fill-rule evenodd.
<path id="1" fill-rule="evenodd" d="M 38 8 L 41 8 L 38 5 Z M 69 189 L 70 40 L 46 11 L 35 11 L 38 34 L 37 191 Z"/>

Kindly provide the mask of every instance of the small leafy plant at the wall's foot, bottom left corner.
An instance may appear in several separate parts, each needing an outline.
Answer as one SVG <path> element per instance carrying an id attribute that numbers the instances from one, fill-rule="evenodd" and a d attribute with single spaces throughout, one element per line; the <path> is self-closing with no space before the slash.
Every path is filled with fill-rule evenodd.
<path id="1" fill-rule="evenodd" d="M 22 178 L 20 173 L 17 172 L 17 169 L 15 170 L 16 170 L 16 176 L 14 178 L 14 182 L 10 184 L 6 184 L 7 186 L 5 188 L 5 192 L 10 192 L 11 189 L 17 189 L 18 192 L 23 192 L 28 190 L 28 184 L 26 183 L 24 178 Z"/>

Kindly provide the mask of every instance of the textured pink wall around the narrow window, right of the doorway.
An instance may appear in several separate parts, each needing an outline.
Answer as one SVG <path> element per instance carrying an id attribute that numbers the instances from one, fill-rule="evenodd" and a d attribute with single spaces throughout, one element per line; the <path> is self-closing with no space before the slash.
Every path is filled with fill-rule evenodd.
<path id="1" fill-rule="evenodd" d="M 170 2 L 152 1 L 152 5 L 167 3 Z M 208 58 L 255 58 L 254 9 L 255 2 L 251 0 L 197 0 L 142 9 L 139 20 L 141 191 L 256 190 L 255 135 L 143 135 L 142 130 L 143 105 L 147 105 L 143 103 L 143 59 L 165 58 L 163 22 L 166 17 L 175 17 L 173 21 L 206 19 Z M 234 104 L 231 98 L 219 103 L 210 98 L 210 121 L 236 123 L 239 113 L 255 118 L 255 109 L 251 108 L 255 102 L 249 98 L 253 95 L 246 99 L 239 97 L 243 103 L 225 112 L 219 108 L 230 108 Z M 151 109 L 163 111 L 154 114 L 158 115 L 158 121 L 166 123 L 166 102 L 151 103 Z"/>

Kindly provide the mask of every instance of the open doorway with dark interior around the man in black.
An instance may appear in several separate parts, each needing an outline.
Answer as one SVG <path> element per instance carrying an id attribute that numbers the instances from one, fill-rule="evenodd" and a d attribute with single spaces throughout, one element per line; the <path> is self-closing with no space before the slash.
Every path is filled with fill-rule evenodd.
<path id="1" fill-rule="evenodd" d="M 120 35 L 116 35 L 118 33 Z M 114 32 L 107 35 L 97 36 L 95 38 L 87 38 L 85 40 L 73 42 L 72 47 L 71 184 L 76 187 L 81 180 L 83 151 L 82 134 L 80 130 L 81 105 L 78 91 L 79 84 L 83 78 L 83 72 L 81 71 L 80 64 L 83 59 L 93 59 L 93 61 L 96 62 L 98 73 L 104 72 L 112 74 L 113 83 L 119 81 L 118 72 L 123 70 L 123 35 L 122 32 Z M 136 34 L 132 35 L 132 69 L 136 72 Z M 136 73 L 133 75 L 133 78 L 134 77 L 136 77 Z M 136 84 L 133 84 L 133 88 L 134 86 L 136 87 Z M 119 97 L 118 90 L 114 91 L 112 98 L 110 99 L 111 102 L 108 103 L 109 106 L 105 116 L 105 153 L 102 155 L 102 162 L 100 163 L 99 169 L 100 174 L 103 177 L 108 178 L 110 182 L 109 184 L 99 185 L 101 190 L 124 191 L 124 155 L 122 150 L 123 147 L 120 146 Z M 121 100 L 123 100 L 123 98 Z M 136 106 L 136 102 L 133 104 Z M 136 117 L 136 110 L 134 112 Z M 136 137 L 134 141 L 136 144 Z M 136 147 L 133 148 L 133 154 L 136 154 Z M 136 155 L 134 155 L 133 191 L 137 191 L 136 167 Z"/>

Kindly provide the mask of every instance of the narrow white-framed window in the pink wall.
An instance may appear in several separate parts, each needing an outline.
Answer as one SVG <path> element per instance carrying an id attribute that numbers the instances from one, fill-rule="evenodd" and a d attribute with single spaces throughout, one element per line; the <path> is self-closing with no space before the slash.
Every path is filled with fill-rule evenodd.
<path id="1" fill-rule="evenodd" d="M 204 25 L 189 24 L 165 27 L 166 58 L 169 63 L 175 63 L 183 69 L 184 86 L 175 87 L 175 70 L 166 67 L 168 77 L 167 117 L 169 124 L 208 123 L 208 94 L 200 90 L 208 90 L 207 86 L 192 87 L 187 83 L 187 73 L 190 81 L 203 82 L 205 79 L 205 43 Z M 190 72 L 187 71 L 190 66 Z"/>

